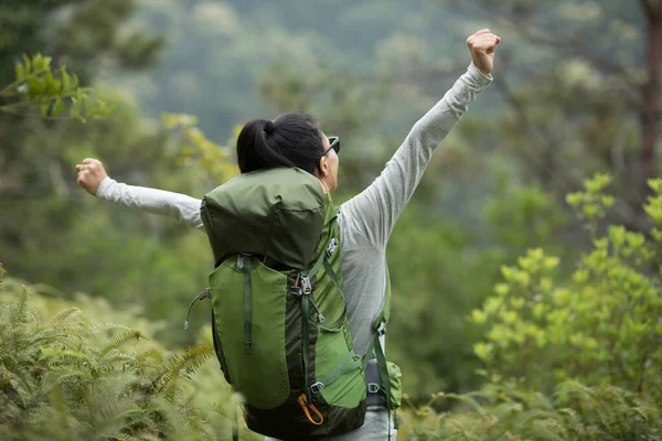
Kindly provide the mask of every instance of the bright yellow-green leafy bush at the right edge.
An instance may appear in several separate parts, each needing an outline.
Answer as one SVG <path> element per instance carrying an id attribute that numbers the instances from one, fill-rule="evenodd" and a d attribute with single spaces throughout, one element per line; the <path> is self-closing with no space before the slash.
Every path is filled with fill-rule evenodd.
<path id="1" fill-rule="evenodd" d="M 662 180 L 645 206 L 651 237 L 601 220 L 613 204 L 604 195 L 610 179 L 597 175 L 568 196 L 579 209 L 594 247 L 568 281 L 555 281 L 558 259 L 530 250 L 503 267 L 504 282 L 472 312 L 488 324 L 476 354 L 490 373 L 524 378 L 549 392 L 557 381 L 613 385 L 662 404 Z"/>

